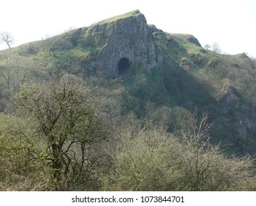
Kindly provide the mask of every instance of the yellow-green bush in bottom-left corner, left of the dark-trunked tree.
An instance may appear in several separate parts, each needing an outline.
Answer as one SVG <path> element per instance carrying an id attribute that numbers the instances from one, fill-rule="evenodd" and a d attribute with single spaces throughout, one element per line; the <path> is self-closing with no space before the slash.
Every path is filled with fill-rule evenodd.
<path id="1" fill-rule="evenodd" d="M 0 115 L 0 190 L 45 190 L 48 168 L 41 159 L 41 142 L 34 124 Z"/>

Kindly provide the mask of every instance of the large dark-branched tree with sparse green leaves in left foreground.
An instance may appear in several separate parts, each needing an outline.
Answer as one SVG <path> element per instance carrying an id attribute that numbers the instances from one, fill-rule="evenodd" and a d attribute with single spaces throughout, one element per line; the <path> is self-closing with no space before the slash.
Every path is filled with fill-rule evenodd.
<path id="1" fill-rule="evenodd" d="M 89 89 L 65 77 L 59 83 L 24 86 L 18 93 L 17 106 L 22 116 L 36 122 L 44 142 L 41 155 L 52 169 L 56 190 L 69 187 L 94 170 L 93 144 L 105 140 L 108 130 L 96 115 L 96 102 Z"/>

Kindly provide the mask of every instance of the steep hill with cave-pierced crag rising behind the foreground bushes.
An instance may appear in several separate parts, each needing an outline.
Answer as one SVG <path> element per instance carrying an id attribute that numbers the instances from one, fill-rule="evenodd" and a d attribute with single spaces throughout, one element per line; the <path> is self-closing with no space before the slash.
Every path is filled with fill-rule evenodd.
<path id="1" fill-rule="evenodd" d="M 193 35 L 163 32 L 139 10 L 0 51 L 0 73 L 2 112 L 26 82 L 73 74 L 115 96 L 121 115 L 174 132 L 181 113 L 207 110 L 212 143 L 237 154 L 256 151 L 255 61 L 204 49 Z"/>

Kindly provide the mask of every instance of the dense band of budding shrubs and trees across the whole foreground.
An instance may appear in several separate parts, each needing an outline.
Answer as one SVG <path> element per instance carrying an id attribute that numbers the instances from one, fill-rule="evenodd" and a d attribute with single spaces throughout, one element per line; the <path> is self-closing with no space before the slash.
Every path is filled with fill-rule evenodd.
<path id="1" fill-rule="evenodd" d="M 22 85 L 1 113 L 2 191 L 256 189 L 254 160 L 210 143 L 206 111 L 148 103 L 139 119 L 122 108 L 127 91 L 78 82 Z"/>

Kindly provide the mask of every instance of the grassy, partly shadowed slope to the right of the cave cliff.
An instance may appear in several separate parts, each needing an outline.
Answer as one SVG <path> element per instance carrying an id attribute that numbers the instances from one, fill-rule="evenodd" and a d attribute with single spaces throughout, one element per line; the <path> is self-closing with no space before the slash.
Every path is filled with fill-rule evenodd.
<path id="1" fill-rule="evenodd" d="M 176 100 L 174 105 L 188 110 L 205 107 L 214 121 L 215 142 L 232 145 L 236 152 L 254 153 L 255 64 L 245 54 L 216 54 L 186 39 L 168 34 L 156 40 L 168 59 L 165 85 Z"/>

